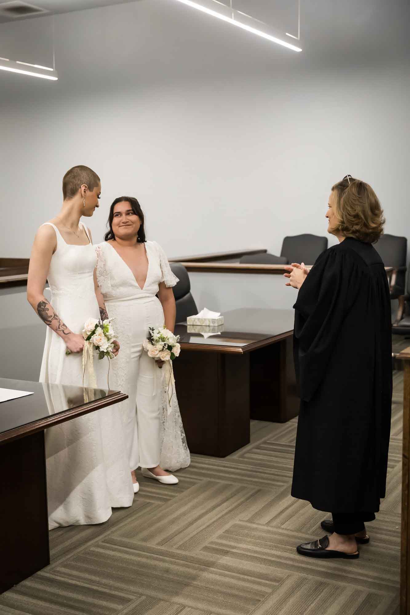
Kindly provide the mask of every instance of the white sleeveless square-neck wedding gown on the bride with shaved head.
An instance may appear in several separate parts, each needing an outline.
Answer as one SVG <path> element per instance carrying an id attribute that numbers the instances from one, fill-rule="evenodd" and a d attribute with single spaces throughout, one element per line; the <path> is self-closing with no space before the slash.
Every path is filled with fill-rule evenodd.
<path id="1" fill-rule="evenodd" d="M 81 333 L 87 319 L 100 316 L 94 291 L 94 247 L 91 242 L 66 244 L 57 227 L 47 224 L 57 236 L 47 275 L 50 303 L 71 331 Z M 82 385 L 82 355 L 65 351 L 63 339 L 47 327 L 40 382 Z M 105 379 L 104 388 L 106 363 L 94 362 L 98 380 Z M 46 458 L 49 529 L 102 523 L 111 516 L 111 507 L 131 506 L 134 490 L 119 404 L 47 429 Z"/>

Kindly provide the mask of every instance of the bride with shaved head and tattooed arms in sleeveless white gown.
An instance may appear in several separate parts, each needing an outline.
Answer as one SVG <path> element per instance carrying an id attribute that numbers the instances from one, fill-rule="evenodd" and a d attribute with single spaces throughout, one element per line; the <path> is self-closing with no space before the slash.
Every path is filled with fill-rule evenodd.
<path id="1" fill-rule="evenodd" d="M 40 226 L 34 239 L 27 298 L 47 325 L 40 375 L 44 383 L 81 386 L 84 323 L 107 318 L 95 276 L 91 233 L 81 221 L 98 208 L 100 193 L 100 178 L 92 169 L 79 165 L 68 170 L 62 208 Z M 44 295 L 47 280 L 50 300 Z M 117 344 L 115 354 L 118 350 Z M 96 362 L 97 376 L 102 363 Z M 50 529 L 102 523 L 112 507 L 131 506 L 134 491 L 124 453 L 124 428 L 115 408 L 46 430 Z"/>

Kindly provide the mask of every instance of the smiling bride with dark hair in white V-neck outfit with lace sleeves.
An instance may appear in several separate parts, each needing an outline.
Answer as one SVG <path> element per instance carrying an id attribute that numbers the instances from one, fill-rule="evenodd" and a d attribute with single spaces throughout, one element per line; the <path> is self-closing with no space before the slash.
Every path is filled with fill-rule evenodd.
<path id="1" fill-rule="evenodd" d="M 174 331 L 175 300 L 172 287 L 178 279 L 163 249 L 145 237 L 144 215 L 134 197 L 115 199 L 108 216 L 105 241 L 95 246 L 97 280 L 108 316 L 121 342 L 113 361 L 110 386 L 129 395 L 121 402 L 126 450 L 134 483 L 135 469 L 145 477 L 168 485 L 178 479 L 166 470 L 190 463 L 177 396 L 167 411 L 163 363 L 143 350 L 149 327 Z"/>

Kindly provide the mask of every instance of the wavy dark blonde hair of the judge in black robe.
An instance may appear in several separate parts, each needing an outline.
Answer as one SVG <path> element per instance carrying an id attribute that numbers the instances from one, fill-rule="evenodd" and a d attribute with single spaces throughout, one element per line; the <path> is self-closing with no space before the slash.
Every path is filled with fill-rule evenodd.
<path id="1" fill-rule="evenodd" d="M 385 218 L 380 201 L 369 184 L 347 175 L 332 186 L 334 210 L 339 220 L 332 232 L 374 244 L 383 234 Z"/>

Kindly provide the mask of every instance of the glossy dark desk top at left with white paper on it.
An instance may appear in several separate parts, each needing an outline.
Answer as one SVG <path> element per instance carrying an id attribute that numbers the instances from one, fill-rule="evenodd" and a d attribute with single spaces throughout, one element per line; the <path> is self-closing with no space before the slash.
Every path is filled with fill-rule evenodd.
<path id="1" fill-rule="evenodd" d="M 122 402 L 128 397 L 119 391 L 7 378 L 0 378 L 0 387 L 33 391 L 33 395 L 0 403 L 0 444 Z"/>

